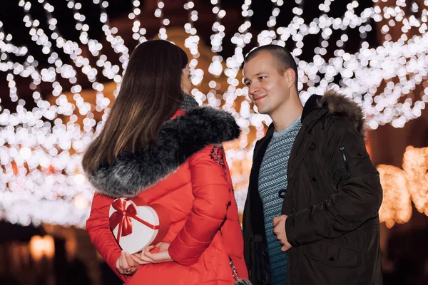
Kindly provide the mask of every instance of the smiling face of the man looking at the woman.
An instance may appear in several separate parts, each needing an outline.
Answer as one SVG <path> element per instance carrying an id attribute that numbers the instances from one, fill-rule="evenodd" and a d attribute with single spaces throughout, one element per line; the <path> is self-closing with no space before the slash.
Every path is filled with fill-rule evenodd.
<path id="1" fill-rule="evenodd" d="M 290 71 L 278 73 L 275 58 L 260 52 L 244 65 L 244 83 L 260 114 L 272 114 L 290 96 Z M 293 73 L 294 74 L 294 73 Z"/>

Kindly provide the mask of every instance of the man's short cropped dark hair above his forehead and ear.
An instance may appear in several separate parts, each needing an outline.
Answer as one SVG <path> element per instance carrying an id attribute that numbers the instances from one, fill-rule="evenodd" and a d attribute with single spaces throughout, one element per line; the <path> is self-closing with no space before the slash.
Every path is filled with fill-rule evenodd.
<path id="1" fill-rule="evenodd" d="M 258 48 L 253 49 L 253 51 L 250 51 L 250 53 L 245 56 L 244 63 L 247 63 L 248 61 L 252 60 L 262 52 L 270 53 L 273 56 L 275 63 L 277 63 L 278 73 L 284 74 L 288 68 L 292 68 L 292 70 L 295 71 L 295 84 L 297 89 L 297 82 L 299 78 L 297 74 L 297 64 L 295 62 L 295 59 L 292 57 L 290 51 L 287 50 L 287 48 L 277 45 L 259 46 Z"/>

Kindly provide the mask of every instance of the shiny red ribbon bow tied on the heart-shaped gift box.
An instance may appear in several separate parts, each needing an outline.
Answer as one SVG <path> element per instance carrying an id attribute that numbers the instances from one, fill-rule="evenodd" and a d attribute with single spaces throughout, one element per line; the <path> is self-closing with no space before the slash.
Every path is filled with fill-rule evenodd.
<path id="1" fill-rule="evenodd" d="M 123 202 L 122 202 L 123 201 Z M 141 224 L 144 224 L 146 227 L 151 229 L 159 229 L 159 226 L 154 226 L 143 219 L 137 217 L 137 209 L 134 204 L 129 204 L 126 207 L 126 199 L 116 199 L 113 201 L 111 206 L 116 209 L 116 212 L 113 212 L 110 216 L 110 229 L 113 231 L 118 225 L 118 236 L 117 240 L 120 241 L 121 237 L 126 237 L 128 234 L 132 234 L 132 219 L 136 219 Z"/>

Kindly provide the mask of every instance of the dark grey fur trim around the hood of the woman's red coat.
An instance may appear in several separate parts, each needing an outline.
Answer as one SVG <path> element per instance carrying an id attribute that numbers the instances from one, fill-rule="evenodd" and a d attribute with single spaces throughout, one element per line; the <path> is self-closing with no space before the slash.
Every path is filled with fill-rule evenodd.
<path id="1" fill-rule="evenodd" d="M 211 144 L 239 138 L 240 128 L 229 113 L 196 108 L 166 122 L 156 144 L 135 153 L 122 152 L 111 165 L 100 165 L 88 180 L 108 197 L 135 197 L 178 170 L 195 152 Z"/>

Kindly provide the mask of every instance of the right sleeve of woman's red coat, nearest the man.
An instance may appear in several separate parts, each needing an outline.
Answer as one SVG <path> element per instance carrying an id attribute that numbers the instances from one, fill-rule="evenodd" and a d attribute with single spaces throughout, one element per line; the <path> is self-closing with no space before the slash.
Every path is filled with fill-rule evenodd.
<path id="1" fill-rule="evenodd" d="M 219 231 L 230 204 L 231 190 L 223 147 L 205 147 L 188 162 L 195 199 L 188 220 L 168 249 L 170 257 L 182 265 L 198 261 Z"/>

